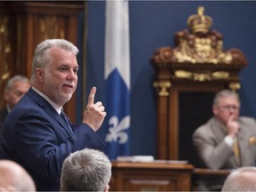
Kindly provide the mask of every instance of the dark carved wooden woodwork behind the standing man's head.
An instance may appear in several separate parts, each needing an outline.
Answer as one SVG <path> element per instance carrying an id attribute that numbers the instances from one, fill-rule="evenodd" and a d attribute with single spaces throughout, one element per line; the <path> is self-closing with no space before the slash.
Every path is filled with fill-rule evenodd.
<path id="1" fill-rule="evenodd" d="M 80 12 L 84 12 L 84 2 L 0 2 L 0 68 L 4 68 L 0 73 L 1 93 L 10 76 L 31 76 L 36 45 L 44 39 L 65 38 L 77 45 Z M 73 122 L 75 106 L 74 94 L 65 106 Z"/>

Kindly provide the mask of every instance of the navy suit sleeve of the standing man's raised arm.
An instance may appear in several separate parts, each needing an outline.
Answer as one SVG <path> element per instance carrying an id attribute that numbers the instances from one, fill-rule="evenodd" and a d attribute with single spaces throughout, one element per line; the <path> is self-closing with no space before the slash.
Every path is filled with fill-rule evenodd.
<path id="1" fill-rule="evenodd" d="M 61 165 L 72 152 L 84 148 L 102 150 L 104 143 L 86 124 L 71 135 L 51 116 L 30 109 L 4 132 L 12 159 L 26 164 L 43 180 L 60 180 Z M 10 128 L 10 129 L 9 129 Z"/>

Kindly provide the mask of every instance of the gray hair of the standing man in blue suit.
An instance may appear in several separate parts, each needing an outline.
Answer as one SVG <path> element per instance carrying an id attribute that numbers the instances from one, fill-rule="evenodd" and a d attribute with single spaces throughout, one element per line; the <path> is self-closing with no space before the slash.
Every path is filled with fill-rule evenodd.
<path id="1" fill-rule="evenodd" d="M 32 62 L 32 76 L 31 80 L 35 78 L 36 68 L 44 68 L 51 60 L 49 50 L 52 47 L 60 47 L 63 50 L 73 52 L 75 55 L 79 52 L 77 47 L 65 39 L 46 39 L 41 44 L 38 44 L 35 50 Z"/>

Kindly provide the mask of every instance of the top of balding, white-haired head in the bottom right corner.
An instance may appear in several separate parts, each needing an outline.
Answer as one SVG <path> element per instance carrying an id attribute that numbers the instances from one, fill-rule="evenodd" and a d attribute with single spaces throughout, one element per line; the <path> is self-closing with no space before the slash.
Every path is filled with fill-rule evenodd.
<path id="1" fill-rule="evenodd" d="M 241 167 L 231 172 L 222 191 L 256 191 L 256 168 Z"/>

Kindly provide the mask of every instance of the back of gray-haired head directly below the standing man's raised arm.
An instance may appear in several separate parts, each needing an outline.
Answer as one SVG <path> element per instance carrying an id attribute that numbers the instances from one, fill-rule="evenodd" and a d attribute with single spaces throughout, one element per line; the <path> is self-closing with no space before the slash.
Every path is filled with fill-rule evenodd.
<path id="1" fill-rule="evenodd" d="M 111 163 L 104 153 L 85 148 L 62 164 L 60 191 L 108 191 Z"/>

